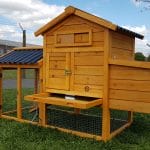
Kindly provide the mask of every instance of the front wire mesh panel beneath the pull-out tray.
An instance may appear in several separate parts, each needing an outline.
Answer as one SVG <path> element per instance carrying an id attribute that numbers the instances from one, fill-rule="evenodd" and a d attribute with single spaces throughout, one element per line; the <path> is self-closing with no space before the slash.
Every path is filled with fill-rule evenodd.
<path id="1" fill-rule="evenodd" d="M 74 131 L 85 132 L 93 135 L 101 135 L 102 118 L 84 111 L 76 114 L 74 110 L 63 107 L 49 107 L 48 124 Z"/>

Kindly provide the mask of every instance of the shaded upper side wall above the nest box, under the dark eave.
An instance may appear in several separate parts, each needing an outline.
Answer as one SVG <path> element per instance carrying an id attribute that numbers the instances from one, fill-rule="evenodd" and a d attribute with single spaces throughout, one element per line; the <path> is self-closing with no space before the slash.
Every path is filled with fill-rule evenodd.
<path id="1" fill-rule="evenodd" d="M 110 57 L 112 59 L 134 59 L 134 37 L 111 31 Z"/>

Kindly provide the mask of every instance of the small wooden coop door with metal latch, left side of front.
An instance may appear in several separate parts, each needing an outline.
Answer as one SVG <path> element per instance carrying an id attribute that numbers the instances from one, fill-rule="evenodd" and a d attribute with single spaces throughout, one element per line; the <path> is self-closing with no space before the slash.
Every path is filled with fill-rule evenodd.
<path id="1" fill-rule="evenodd" d="M 69 90 L 70 54 L 64 52 L 48 53 L 46 66 L 46 87 Z"/>

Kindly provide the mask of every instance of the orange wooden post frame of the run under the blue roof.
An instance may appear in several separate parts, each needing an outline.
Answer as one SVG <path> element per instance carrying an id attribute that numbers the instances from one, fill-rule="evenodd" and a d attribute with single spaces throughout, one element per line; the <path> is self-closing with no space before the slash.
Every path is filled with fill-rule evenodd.
<path id="1" fill-rule="evenodd" d="M 38 78 L 39 78 L 39 70 L 42 68 L 42 60 L 40 60 L 37 64 L 34 65 L 14 65 L 14 64 L 0 64 L 0 118 L 16 120 L 19 122 L 26 122 L 37 124 L 35 122 L 22 119 L 22 111 L 25 109 L 29 109 L 29 107 L 22 107 L 22 69 L 35 69 L 35 82 L 34 82 L 34 92 L 38 91 Z M 2 112 L 3 107 L 3 96 L 2 96 L 2 72 L 6 69 L 16 69 L 17 70 L 17 109 Z M 42 74 L 41 74 L 42 75 Z M 40 77 L 42 78 L 42 77 Z M 40 83 L 42 84 L 42 82 Z M 42 86 L 41 86 L 42 87 Z M 30 106 L 30 109 L 33 109 L 34 106 Z M 17 113 L 17 117 L 9 116 L 11 113 Z"/>

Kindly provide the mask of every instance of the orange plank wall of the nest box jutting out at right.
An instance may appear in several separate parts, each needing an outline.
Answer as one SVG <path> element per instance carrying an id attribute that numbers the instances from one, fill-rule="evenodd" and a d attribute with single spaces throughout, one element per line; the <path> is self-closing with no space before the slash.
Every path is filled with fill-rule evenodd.
<path id="1" fill-rule="evenodd" d="M 110 108 L 150 113 L 150 68 L 110 65 Z"/>

